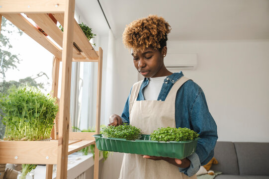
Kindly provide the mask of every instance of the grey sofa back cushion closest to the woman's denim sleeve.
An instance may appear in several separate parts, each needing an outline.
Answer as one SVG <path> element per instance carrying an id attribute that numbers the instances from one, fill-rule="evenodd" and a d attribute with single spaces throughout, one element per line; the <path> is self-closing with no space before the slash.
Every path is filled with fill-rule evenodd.
<path id="1" fill-rule="evenodd" d="M 219 162 L 217 165 L 212 165 L 210 170 L 222 172 L 222 174 L 239 175 L 237 157 L 233 142 L 217 141 L 214 157 Z"/>

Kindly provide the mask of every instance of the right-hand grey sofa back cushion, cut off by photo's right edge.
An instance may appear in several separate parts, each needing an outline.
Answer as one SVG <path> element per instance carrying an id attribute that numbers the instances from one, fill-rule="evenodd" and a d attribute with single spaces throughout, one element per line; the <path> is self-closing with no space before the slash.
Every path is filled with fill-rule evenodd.
<path id="1" fill-rule="evenodd" d="M 235 142 L 240 175 L 269 176 L 269 143 Z"/>

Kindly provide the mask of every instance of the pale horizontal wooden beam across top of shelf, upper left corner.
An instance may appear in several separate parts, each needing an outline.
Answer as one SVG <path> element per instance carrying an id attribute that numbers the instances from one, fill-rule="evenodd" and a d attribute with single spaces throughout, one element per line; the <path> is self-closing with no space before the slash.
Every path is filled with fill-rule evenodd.
<path id="1" fill-rule="evenodd" d="M 1 0 L 0 13 L 64 12 L 65 0 Z"/>

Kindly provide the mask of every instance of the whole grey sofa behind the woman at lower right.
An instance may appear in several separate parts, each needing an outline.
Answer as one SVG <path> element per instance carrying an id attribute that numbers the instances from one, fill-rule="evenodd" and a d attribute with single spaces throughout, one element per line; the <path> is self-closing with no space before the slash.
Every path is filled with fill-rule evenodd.
<path id="1" fill-rule="evenodd" d="M 269 143 L 217 142 L 214 152 L 215 179 L 269 179 Z"/>

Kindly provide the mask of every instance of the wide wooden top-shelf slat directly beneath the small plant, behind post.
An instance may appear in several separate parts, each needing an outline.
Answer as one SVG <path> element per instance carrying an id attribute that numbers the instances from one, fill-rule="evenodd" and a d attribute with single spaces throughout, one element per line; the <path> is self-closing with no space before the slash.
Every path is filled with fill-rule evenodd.
<path id="1" fill-rule="evenodd" d="M 54 17 L 59 21 L 59 23 L 64 27 L 64 21 L 62 13 L 53 13 Z M 78 22 L 74 21 L 74 42 L 79 46 L 79 48 L 85 53 L 88 59 L 98 59 L 98 55 L 90 44 L 89 40 L 85 36 L 83 30 L 81 29 Z"/>

